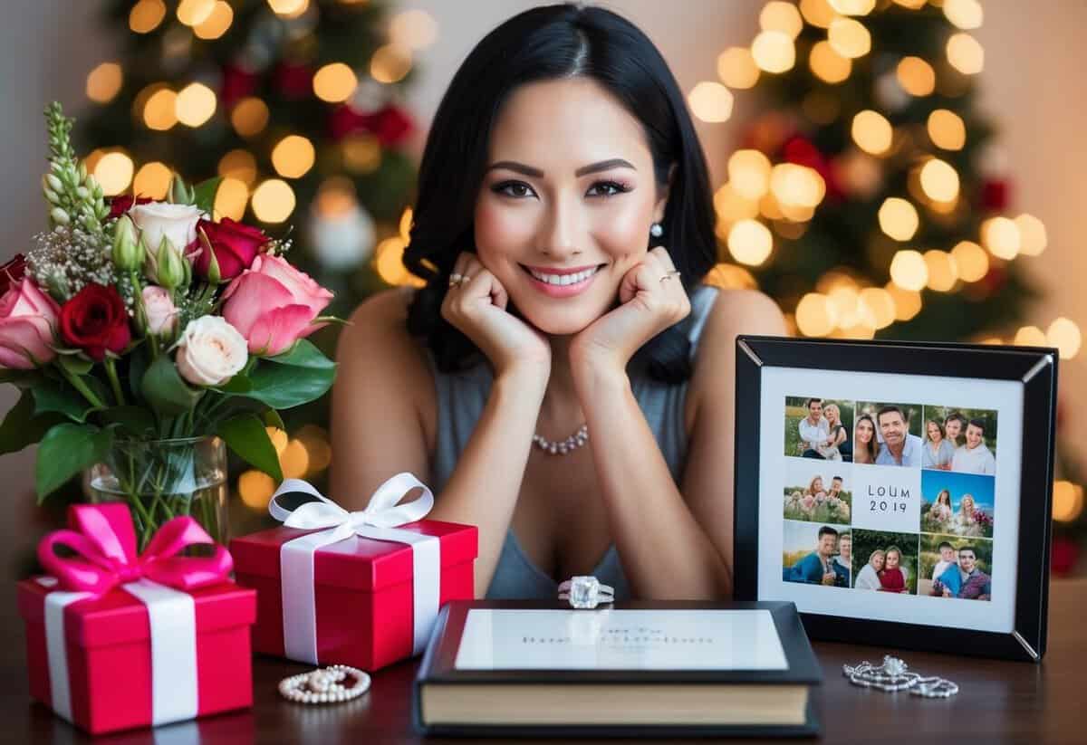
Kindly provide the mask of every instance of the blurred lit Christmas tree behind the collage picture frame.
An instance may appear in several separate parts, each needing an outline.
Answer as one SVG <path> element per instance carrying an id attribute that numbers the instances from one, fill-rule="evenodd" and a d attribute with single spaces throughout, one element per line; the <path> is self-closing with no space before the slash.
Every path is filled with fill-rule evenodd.
<path id="1" fill-rule="evenodd" d="M 1038 218 L 1008 214 L 1004 159 L 976 102 L 982 22 L 977 0 L 765 3 L 750 48 L 725 50 L 721 83 L 690 94 L 707 121 L 729 116 L 729 89 L 753 88 L 759 109 L 714 198 L 730 263 L 711 281 L 759 287 L 803 336 L 1074 356 L 1069 319 L 1015 330 L 1037 296 L 1019 257 L 1047 237 Z M 1087 538 L 1082 475 L 1058 450 L 1069 480 L 1054 489 L 1054 570 L 1075 564 L 1061 538 Z"/>

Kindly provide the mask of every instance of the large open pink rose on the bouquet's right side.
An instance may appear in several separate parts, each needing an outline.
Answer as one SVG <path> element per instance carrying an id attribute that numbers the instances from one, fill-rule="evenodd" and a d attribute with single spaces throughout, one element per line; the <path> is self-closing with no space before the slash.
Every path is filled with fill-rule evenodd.
<path id="1" fill-rule="evenodd" d="M 274 356 L 321 328 L 313 319 L 332 299 L 286 260 L 259 254 L 223 293 L 223 317 L 246 338 L 250 354 Z"/>

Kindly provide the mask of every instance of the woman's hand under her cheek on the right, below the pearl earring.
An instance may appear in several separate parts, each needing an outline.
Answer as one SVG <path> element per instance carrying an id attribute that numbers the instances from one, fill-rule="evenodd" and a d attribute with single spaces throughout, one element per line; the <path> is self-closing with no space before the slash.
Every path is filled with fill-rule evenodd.
<path id="1" fill-rule="evenodd" d="M 657 247 L 632 267 L 619 288 L 620 306 L 582 330 L 571 344 L 578 370 L 625 372 L 626 364 L 647 341 L 690 313 L 690 300 L 664 247 Z"/>

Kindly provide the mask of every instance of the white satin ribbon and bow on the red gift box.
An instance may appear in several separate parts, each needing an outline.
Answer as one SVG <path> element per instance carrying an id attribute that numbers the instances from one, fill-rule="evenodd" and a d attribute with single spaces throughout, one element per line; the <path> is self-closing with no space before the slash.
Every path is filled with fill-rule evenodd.
<path id="1" fill-rule="evenodd" d="M 413 502 L 398 504 L 408 492 L 422 489 Z M 287 509 L 278 497 L 287 492 L 303 492 L 316 498 L 295 509 Z M 441 576 L 441 542 L 434 535 L 421 535 L 398 526 L 423 519 L 434 506 L 434 493 L 411 473 L 397 473 L 374 492 L 365 509 L 349 513 L 323 496 L 301 479 L 286 479 L 268 503 L 268 513 L 288 528 L 315 530 L 287 541 L 279 548 L 283 577 L 284 653 L 290 659 L 317 664 L 317 618 L 313 584 L 313 555 L 318 548 L 351 535 L 408 543 L 412 547 L 412 655 L 421 654 L 438 617 Z"/>

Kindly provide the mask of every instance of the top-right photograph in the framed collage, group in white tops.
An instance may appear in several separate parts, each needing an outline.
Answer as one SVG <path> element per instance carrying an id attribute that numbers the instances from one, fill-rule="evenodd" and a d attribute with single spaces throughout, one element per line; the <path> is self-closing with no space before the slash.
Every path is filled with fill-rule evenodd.
<path id="1" fill-rule="evenodd" d="M 997 413 L 987 408 L 925 406 L 922 468 L 997 472 Z"/>

